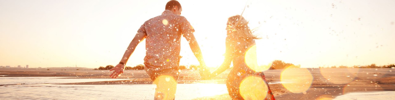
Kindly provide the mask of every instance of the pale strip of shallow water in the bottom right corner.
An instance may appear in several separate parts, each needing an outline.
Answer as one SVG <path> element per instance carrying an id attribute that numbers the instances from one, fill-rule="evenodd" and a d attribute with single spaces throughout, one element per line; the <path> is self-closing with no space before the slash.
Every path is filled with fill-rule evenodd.
<path id="1" fill-rule="evenodd" d="M 350 92 L 333 100 L 395 100 L 395 91 Z"/>

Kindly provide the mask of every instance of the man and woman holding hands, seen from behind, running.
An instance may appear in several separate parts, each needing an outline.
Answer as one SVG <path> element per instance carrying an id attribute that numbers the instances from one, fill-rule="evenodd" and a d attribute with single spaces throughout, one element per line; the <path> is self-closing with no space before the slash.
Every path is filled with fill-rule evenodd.
<path id="1" fill-rule="evenodd" d="M 183 36 L 188 41 L 192 52 L 200 63 L 200 68 L 198 69 L 203 79 L 210 79 L 224 72 L 229 68 L 231 62 L 233 62 L 233 68 L 228 74 L 226 81 L 229 96 L 233 100 L 275 100 L 263 72 L 252 70 L 245 62 L 246 51 L 255 45 L 255 39 L 260 38 L 252 34 L 247 25 L 248 21 L 246 21 L 244 17 L 235 15 L 228 18 L 228 23 L 226 23 L 227 37 L 225 59 L 222 65 L 211 73 L 205 66 L 198 42 L 194 37 L 193 32 L 195 30 L 186 18 L 181 16 L 181 11 L 181 4 L 176 0 L 171 0 L 167 2 L 165 11 L 162 15 L 145 21 L 137 31 L 132 42 L 130 42 L 119 64 L 110 70 L 113 71 L 110 77 L 117 78 L 123 73 L 125 64 L 130 55 L 132 55 L 137 44 L 146 39 L 144 68 L 150 76 L 150 79 L 156 84 L 154 99 L 173 100 L 175 98 L 174 94 L 179 76 L 179 60 L 181 58 L 179 54 L 181 36 Z M 256 55 L 256 52 L 254 54 Z M 241 85 L 243 79 L 250 76 L 259 77 L 255 78 L 258 79 L 256 81 L 263 81 L 261 84 L 265 86 L 265 90 L 251 91 L 264 91 L 264 94 L 241 93 L 240 88 L 243 88 Z M 251 85 L 256 84 L 252 83 Z M 173 87 L 169 88 L 169 86 Z"/>

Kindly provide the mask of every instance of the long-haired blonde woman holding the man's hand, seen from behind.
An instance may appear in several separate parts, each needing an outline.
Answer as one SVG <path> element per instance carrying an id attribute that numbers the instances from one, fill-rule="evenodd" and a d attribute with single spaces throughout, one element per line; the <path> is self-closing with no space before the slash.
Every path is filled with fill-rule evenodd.
<path id="1" fill-rule="evenodd" d="M 226 53 L 225 60 L 222 65 L 215 70 L 210 76 L 214 77 L 226 69 L 229 68 L 231 62 L 233 61 L 233 68 L 228 74 L 228 79 L 226 81 L 226 86 L 228 87 L 229 96 L 233 100 L 244 100 L 244 99 L 265 99 L 265 100 L 275 100 L 270 88 L 269 84 L 265 79 L 265 75 L 263 72 L 256 72 L 253 69 L 249 68 L 245 62 L 245 54 L 246 51 L 255 45 L 255 39 L 260 39 L 254 36 L 248 27 L 248 21 L 244 19 L 244 17 L 240 15 L 235 15 L 228 18 L 228 23 L 226 24 L 227 37 L 226 37 Z M 254 48 L 253 48 L 254 49 Z M 256 52 L 253 52 L 253 55 L 256 55 Z M 256 58 L 254 58 L 256 63 Z M 256 94 L 257 92 L 252 92 L 248 96 L 248 94 L 243 94 L 241 88 L 244 86 L 241 85 L 243 79 L 246 77 L 255 76 L 259 78 L 258 81 L 261 81 L 261 85 L 267 89 L 264 91 L 263 89 L 259 89 L 258 91 L 261 94 Z M 260 79 L 260 80 L 259 80 Z M 256 85 L 255 81 L 247 85 Z M 255 88 L 251 88 L 255 89 Z M 251 90 L 253 91 L 253 90 Z M 267 93 L 267 94 L 265 94 Z M 252 95 L 260 95 L 260 98 L 254 97 Z M 246 96 L 247 95 L 247 96 Z"/>

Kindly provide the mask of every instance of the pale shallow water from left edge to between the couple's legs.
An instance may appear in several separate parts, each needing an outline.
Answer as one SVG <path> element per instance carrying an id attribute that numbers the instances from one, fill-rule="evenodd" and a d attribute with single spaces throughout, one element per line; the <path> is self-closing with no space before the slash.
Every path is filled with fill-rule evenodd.
<path id="1" fill-rule="evenodd" d="M 88 81 L 111 81 L 124 79 L 59 79 L 60 77 L 0 77 L 2 99 L 135 99 L 152 100 L 155 85 L 54 85 L 52 83 L 75 83 Z M 50 84 L 43 84 L 50 83 Z M 225 84 L 178 84 L 176 100 L 194 99 L 228 93 Z"/>

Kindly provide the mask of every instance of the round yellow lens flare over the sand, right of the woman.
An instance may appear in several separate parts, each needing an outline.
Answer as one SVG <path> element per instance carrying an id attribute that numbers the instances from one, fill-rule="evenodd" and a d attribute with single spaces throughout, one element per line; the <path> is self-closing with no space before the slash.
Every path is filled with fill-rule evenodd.
<path id="1" fill-rule="evenodd" d="M 310 88 L 313 77 L 306 68 L 297 68 L 292 65 L 282 71 L 280 80 L 286 89 L 299 93 L 306 92 Z"/>

